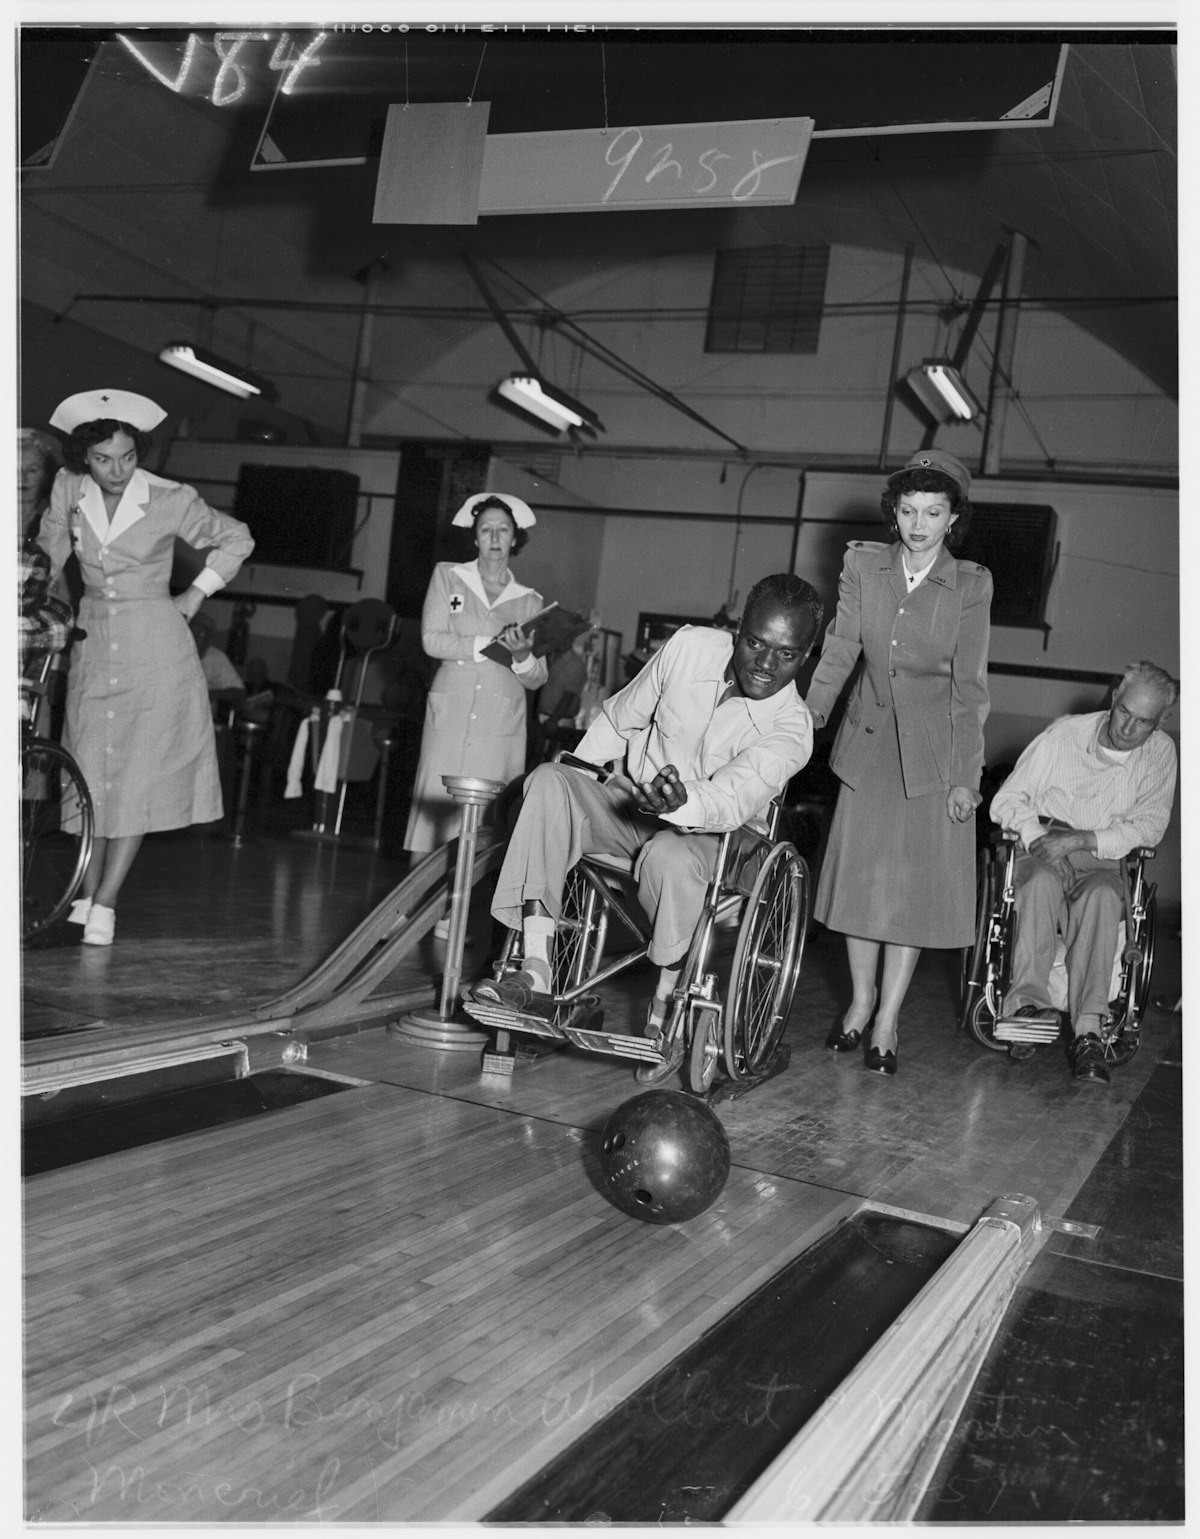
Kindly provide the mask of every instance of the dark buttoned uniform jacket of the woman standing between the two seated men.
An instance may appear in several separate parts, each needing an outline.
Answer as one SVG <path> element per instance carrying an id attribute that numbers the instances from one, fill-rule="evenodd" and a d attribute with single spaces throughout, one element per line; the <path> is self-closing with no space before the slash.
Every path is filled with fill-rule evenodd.
<path id="1" fill-rule="evenodd" d="M 851 542 L 808 691 L 808 708 L 823 725 L 858 665 L 831 760 L 840 780 L 858 785 L 894 720 L 905 796 L 951 785 L 978 790 L 991 602 L 988 569 L 955 560 L 945 546 L 909 593 L 898 540 Z"/>

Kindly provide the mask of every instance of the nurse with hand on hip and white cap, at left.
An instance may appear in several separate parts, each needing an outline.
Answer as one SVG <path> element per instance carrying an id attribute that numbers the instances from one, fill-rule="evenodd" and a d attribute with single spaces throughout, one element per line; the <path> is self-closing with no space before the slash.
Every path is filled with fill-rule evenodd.
<path id="1" fill-rule="evenodd" d="M 191 486 L 142 468 L 166 412 L 122 389 L 62 402 L 68 434 L 38 542 L 57 576 L 74 549 L 83 602 L 66 691 L 63 740 L 95 808 L 95 843 L 69 919 L 109 946 L 117 897 L 142 839 L 222 816 L 208 688 L 188 622 L 254 549 L 245 523 Z M 169 591 L 175 539 L 206 549 L 192 585 Z"/>

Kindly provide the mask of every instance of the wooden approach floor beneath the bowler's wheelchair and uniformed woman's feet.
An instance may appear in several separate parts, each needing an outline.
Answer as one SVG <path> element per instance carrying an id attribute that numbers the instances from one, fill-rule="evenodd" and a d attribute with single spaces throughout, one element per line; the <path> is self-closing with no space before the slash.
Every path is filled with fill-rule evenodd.
<path id="1" fill-rule="evenodd" d="M 952 957 L 928 953 L 905 1011 L 900 1073 L 886 1079 L 857 1054 L 825 1050 L 843 968 L 838 937 L 809 942 L 785 1036 L 788 1070 L 717 1103 L 734 1163 L 940 1222 L 971 1225 L 1008 1191 L 1062 1216 L 1169 1042 L 1168 1017 L 1151 1011 L 1142 1053 L 1100 1091 L 1072 1080 L 1057 1050 L 1012 1063 L 955 1030 Z M 634 1030 L 645 1019 L 651 977 L 606 985 L 606 1023 Z M 480 1074 L 474 1053 L 412 1047 L 383 1030 L 309 1051 L 337 1073 L 594 1131 L 637 1088 L 628 1063 L 574 1050 L 518 1059 L 511 1079 Z"/>

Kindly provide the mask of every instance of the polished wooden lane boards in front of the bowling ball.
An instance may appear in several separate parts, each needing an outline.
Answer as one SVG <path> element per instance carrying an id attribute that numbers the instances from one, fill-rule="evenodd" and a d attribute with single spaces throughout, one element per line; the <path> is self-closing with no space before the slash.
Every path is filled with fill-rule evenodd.
<path id="1" fill-rule="evenodd" d="M 855 1207 L 640 1224 L 595 1148 L 377 1083 L 28 1179 L 28 1514 L 477 1521 Z"/>

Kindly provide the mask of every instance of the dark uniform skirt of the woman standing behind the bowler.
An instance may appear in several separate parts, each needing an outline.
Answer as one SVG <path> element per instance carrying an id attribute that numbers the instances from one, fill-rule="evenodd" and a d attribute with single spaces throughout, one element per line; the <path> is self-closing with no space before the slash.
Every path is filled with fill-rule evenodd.
<path id="1" fill-rule="evenodd" d="M 905 796 L 895 719 L 857 790 L 842 785 L 814 916 L 829 930 L 902 946 L 975 939 L 975 820 L 946 816 L 946 793 Z"/>

